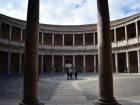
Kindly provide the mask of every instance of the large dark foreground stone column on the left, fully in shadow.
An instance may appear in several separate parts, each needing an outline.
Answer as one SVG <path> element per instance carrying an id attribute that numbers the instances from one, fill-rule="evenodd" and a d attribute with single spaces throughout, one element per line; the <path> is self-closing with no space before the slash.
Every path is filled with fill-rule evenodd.
<path id="1" fill-rule="evenodd" d="M 28 1 L 25 40 L 25 70 L 23 100 L 20 105 L 42 105 L 37 94 L 38 80 L 38 28 L 39 28 L 39 0 Z"/>

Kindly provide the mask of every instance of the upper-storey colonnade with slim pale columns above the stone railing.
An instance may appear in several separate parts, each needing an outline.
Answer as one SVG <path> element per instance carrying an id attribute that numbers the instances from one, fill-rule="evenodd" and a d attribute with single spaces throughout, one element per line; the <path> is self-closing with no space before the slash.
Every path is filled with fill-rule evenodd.
<path id="1" fill-rule="evenodd" d="M 19 26 L 11 25 L 10 23 L 5 23 L 2 20 L 0 21 L 0 29 L 1 29 L 1 39 L 8 39 L 10 41 L 15 42 L 23 42 L 25 41 L 25 34 L 26 29 L 25 27 L 21 28 Z M 131 31 L 130 31 L 131 30 Z M 129 40 L 137 38 L 139 42 L 139 34 L 140 33 L 140 19 L 135 19 L 133 21 L 127 22 L 126 24 L 117 25 L 111 27 L 111 39 L 112 43 L 118 44 L 121 41 L 126 41 L 126 44 L 128 44 Z M 121 35 L 120 35 L 121 34 Z M 51 36 L 50 38 L 48 36 Z M 76 45 L 76 40 L 78 35 L 81 35 L 81 41 L 80 44 Z M 57 39 L 57 36 L 60 36 L 60 39 L 62 40 L 61 44 L 55 43 Z M 66 44 L 66 38 L 67 36 L 72 37 L 68 41 L 71 41 L 69 46 L 85 46 L 85 45 L 97 45 L 97 32 L 96 31 L 83 31 L 83 32 L 52 32 L 52 31 L 41 31 L 39 32 L 39 44 L 40 45 L 46 45 L 46 46 L 67 46 Z M 90 37 L 90 42 L 88 42 L 88 37 Z M 47 42 L 46 39 L 50 40 L 51 42 Z M 79 39 L 80 40 L 80 39 Z"/>

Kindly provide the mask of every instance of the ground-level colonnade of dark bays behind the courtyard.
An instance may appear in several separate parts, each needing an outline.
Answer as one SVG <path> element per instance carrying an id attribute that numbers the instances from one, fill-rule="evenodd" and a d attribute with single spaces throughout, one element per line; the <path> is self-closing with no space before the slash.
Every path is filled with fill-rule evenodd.
<path id="1" fill-rule="evenodd" d="M 3 51 L 0 51 L 2 53 Z M 3 55 L 3 54 L 6 55 Z M 8 75 L 12 74 L 23 74 L 24 69 L 24 53 L 18 52 L 3 52 L 1 54 L 0 62 L 4 62 L 6 59 L 5 68 L 2 68 L 1 73 Z M 15 57 L 16 56 L 16 57 Z M 59 65 L 55 64 L 57 62 L 57 56 L 60 56 L 62 62 L 58 62 Z M 77 56 L 82 58 L 82 66 L 78 63 L 75 63 L 78 59 Z M 133 56 L 133 57 L 132 57 Z M 112 53 L 113 63 L 113 72 L 114 73 L 139 73 L 140 72 L 140 51 L 127 51 Z M 67 59 L 68 58 L 68 59 Z M 70 59 L 69 59 L 70 58 Z M 90 59 L 89 59 L 90 58 Z M 76 60 L 75 60 L 76 59 Z M 12 62 L 14 60 L 14 63 Z M 50 61 L 49 61 L 50 60 Z M 56 62 L 55 62 L 56 60 Z M 12 62 L 12 63 L 11 63 Z M 72 63 L 74 69 L 78 69 L 82 72 L 94 72 L 98 73 L 98 55 L 46 55 L 39 54 L 39 73 L 55 73 L 55 72 L 64 72 L 64 66 L 66 63 Z M 50 63 L 49 63 L 50 62 Z M 47 65 L 49 63 L 49 65 Z M 46 67 L 48 66 L 48 67 Z M 59 66 L 59 67 L 58 67 Z M 79 68 L 80 67 L 80 68 Z M 60 68 L 61 70 L 57 70 Z M 6 70 L 6 71 L 4 71 Z"/>

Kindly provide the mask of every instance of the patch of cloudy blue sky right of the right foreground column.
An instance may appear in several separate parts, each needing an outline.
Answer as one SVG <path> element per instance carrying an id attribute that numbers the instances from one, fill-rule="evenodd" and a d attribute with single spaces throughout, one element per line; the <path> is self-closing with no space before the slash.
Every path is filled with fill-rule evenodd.
<path id="1" fill-rule="evenodd" d="M 140 0 L 109 0 L 111 20 L 140 12 Z"/>

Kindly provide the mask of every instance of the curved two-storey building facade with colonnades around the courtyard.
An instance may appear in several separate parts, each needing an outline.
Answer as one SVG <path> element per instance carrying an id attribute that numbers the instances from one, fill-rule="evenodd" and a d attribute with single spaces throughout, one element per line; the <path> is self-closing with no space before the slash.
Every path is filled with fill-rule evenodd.
<path id="1" fill-rule="evenodd" d="M 0 14 L 0 74 L 24 72 L 26 22 Z M 97 24 L 39 27 L 39 72 L 98 72 Z M 111 22 L 114 73 L 140 72 L 140 13 Z"/>

